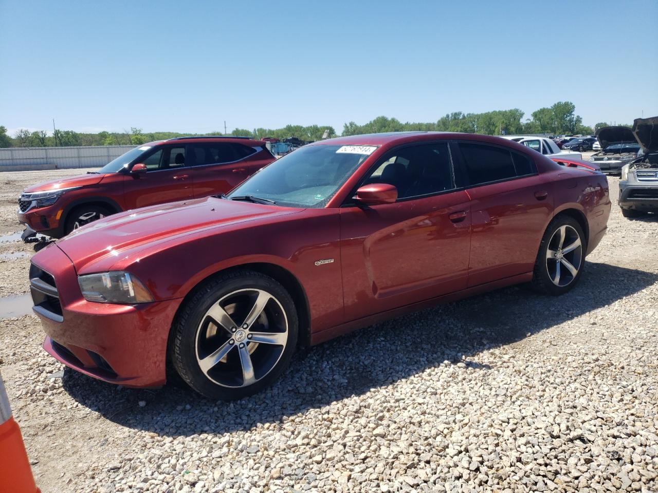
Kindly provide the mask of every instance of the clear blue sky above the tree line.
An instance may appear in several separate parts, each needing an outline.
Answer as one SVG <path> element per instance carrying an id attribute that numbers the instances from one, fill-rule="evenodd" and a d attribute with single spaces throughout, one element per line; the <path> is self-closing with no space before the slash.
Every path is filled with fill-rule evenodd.
<path id="1" fill-rule="evenodd" d="M 0 125 L 206 132 L 572 101 L 658 114 L 656 0 L 0 0 Z"/>

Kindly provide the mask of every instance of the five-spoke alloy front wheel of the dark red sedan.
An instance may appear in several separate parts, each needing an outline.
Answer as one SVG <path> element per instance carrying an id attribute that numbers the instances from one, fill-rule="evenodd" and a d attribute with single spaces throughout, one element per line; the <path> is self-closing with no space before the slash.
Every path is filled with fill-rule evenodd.
<path id="1" fill-rule="evenodd" d="M 279 300 L 262 289 L 239 289 L 201 318 L 197 363 L 217 385 L 248 387 L 274 369 L 287 343 L 288 319 Z"/>

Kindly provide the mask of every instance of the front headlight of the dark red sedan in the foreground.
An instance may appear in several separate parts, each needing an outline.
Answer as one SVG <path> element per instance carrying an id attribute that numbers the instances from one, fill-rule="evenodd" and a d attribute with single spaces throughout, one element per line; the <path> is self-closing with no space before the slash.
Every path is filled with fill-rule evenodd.
<path id="1" fill-rule="evenodd" d="M 153 301 L 149 290 L 137 277 L 124 271 L 80 275 L 78 285 L 87 301 L 136 304 Z"/>

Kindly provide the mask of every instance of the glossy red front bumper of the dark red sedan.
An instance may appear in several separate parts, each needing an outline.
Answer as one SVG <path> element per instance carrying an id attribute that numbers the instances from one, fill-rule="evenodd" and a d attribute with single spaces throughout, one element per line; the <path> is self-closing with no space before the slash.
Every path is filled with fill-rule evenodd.
<path id="1" fill-rule="evenodd" d="M 34 311 L 47 337 L 43 348 L 63 364 L 91 377 L 128 387 L 153 387 L 166 381 L 166 346 L 182 299 L 117 305 L 85 300 L 68 257 L 57 245 L 33 259 L 59 300 L 44 300 L 32 280 Z M 32 275 L 38 275 L 32 273 Z M 45 291 L 48 291 L 46 288 Z"/>

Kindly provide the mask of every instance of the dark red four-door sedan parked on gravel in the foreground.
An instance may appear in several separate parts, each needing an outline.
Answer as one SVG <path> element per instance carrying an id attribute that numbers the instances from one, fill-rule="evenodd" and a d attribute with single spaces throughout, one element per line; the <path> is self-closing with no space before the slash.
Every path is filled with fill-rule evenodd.
<path id="1" fill-rule="evenodd" d="M 104 381 L 266 387 L 298 345 L 518 283 L 567 293 L 606 177 L 513 141 L 382 133 L 307 145 L 228 196 L 116 214 L 32 258 L 44 347 Z"/>

